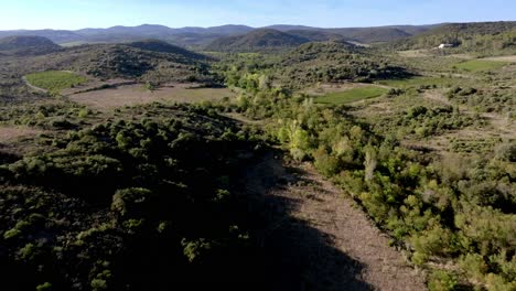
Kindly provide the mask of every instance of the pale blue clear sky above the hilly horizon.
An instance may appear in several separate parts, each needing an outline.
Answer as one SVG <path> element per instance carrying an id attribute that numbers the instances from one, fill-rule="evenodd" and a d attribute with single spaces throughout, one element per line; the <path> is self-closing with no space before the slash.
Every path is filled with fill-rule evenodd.
<path id="1" fill-rule="evenodd" d="M 0 0 L 0 30 L 143 23 L 347 28 L 516 20 L 512 0 Z"/>

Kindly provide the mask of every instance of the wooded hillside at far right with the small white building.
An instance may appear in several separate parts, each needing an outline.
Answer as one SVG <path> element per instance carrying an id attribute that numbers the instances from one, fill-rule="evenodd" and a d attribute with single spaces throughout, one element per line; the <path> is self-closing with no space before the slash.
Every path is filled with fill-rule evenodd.
<path id="1" fill-rule="evenodd" d="M 462 52 L 516 52 L 516 22 L 450 23 L 393 45 L 398 50 L 417 50 L 433 48 L 441 43 L 454 44 L 454 50 Z"/>

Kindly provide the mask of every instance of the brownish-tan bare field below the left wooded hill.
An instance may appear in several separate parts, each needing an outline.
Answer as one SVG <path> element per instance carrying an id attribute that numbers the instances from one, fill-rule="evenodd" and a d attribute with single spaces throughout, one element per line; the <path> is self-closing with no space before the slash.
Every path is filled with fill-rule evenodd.
<path id="1" fill-rule="evenodd" d="M 75 94 L 69 98 L 78 104 L 103 110 L 154 101 L 192 104 L 234 96 L 235 94 L 226 88 L 189 88 L 187 85 L 178 85 L 150 91 L 141 85 L 130 85 Z"/>

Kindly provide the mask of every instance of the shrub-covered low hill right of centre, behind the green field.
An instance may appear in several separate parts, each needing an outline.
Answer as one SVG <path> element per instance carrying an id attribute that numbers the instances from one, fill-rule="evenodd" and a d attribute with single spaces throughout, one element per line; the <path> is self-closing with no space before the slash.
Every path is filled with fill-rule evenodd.
<path id="1" fill-rule="evenodd" d="M 273 86 L 300 89 L 324 82 L 372 82 L 409 75 L 367 48 L 346 42 L 307 43 L 281 55 L 241 55 L 229 60 L 235 63 L 223 66 L 227 84 L 250 90 Z"/>

